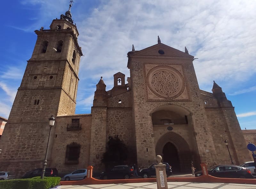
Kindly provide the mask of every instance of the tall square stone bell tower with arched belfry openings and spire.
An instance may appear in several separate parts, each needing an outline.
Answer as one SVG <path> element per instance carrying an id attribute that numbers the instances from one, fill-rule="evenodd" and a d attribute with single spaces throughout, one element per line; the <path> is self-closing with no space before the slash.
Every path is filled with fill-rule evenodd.
<path id="1" fill-rule="evenodd" d="M 48 118 L 74 114 L 80 57 L 79 35 L 71 4 L 50 29 L 36 30 L 36 45 L 18 88 L 0 141 L 0 164 L 19 171 L 42 166 L 49 134 Z M 54 137 L 54 128 L 51 138 Z M 51 140 L 53 141 L 53 140 Z M 51 157 L 52 143 L 48 157 Z M 51 160 L 48 160 L 50 166 Z M 19 170 L 17 170 L 19 169 Z"/>

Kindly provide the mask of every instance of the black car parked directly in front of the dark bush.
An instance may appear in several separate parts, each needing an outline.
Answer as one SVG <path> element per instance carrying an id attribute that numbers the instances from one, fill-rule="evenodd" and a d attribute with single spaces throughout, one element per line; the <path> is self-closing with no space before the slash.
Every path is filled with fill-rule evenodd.
<path id="1" fill-rule="evenodd" d="M 104 171 L 100 174 L 100 179 L 128 179 L 131 178 L 133 173 L 127 165 L 119 165 L 113 167 L 110 171 Z"/>

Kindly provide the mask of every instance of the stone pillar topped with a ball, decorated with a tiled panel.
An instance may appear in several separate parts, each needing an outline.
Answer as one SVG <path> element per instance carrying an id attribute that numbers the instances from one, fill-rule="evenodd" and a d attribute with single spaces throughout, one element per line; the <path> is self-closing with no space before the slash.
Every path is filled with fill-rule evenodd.
<path id="1" fill-rule="evenodd" d="M 162 156 L 157 155 L 156 156 L 156 162 L 155 165 L 156 168 L 156 185 L 157 189 L 168 189 L 167 185 L 167 178 L 166 178 L 166 171 L 165 171 L 165 164 L 161 163 Z"/>

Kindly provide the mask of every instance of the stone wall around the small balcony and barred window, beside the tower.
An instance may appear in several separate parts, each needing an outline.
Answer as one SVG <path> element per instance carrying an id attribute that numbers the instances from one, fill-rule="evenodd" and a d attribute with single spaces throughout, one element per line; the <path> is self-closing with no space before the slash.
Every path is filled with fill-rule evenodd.
<path id="1" fill-rule="evenodd" d="M 67 130 L 72 119 L 79 119 L 81 130 Z M 51 166 L 56 167 L 59 173 L 68 173 L 76 169 L 87 168 L 90 157 L 92 114 L 77 114 L 58 116 L 53 139 Z M 79 164 L 65 164 L 67 145 L 76 142 L 81 145 Z"/>

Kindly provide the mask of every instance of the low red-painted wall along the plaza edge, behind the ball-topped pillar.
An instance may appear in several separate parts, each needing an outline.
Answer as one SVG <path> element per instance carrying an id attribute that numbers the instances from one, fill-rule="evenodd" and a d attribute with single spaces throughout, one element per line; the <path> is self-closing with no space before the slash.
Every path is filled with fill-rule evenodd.
<path id="1" fill-rule="evenodd" d="M 133 179 L 116 179 L 116 180 L 99 180 L 96 178 L 85 178 L 77 181 L 61 181 L 60 185 L 100 185 L 100 184 L 124 184 L 124 183 L 143 183 L 156 182 L 156 178 L 133 178 Z M 256 179 L 244 178 L 217 178 L 210 175 L 200 177 L 171 177 L 167 182 L 202 182 L 202 183 L 234 183 L 234 184 L 256 184 Z"/>

